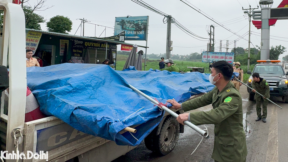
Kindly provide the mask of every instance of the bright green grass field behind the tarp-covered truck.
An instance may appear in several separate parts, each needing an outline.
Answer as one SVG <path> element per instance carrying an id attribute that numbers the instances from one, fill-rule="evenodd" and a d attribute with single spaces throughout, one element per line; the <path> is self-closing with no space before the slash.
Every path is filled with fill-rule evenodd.
<path id="1" fill-rule="evenodd" d="M 117 55 L 117 61 L 116 61 L 116 70 L 122 70 L 125 62 L 128 58 L 128 55 Z M 144 60 L 142 60 L 142 70 L 144 70 Z M 149 70 L 150 68 L 152 68 L 153 70 L 155 69 L 159 69 L 159 61 L 160 59 L 153 59 L 153 60 L 146 60 L 146 69 L 145 70 Z M 209 63 L 205 63 L 205 62 L 194 62 L 194 61 L 177 61 L 177 60 L 173 60 L 174 64 L 182 71 L 190 71 L 189 68 L 187 67 L 203 67 L 205 68 L 205 73 L 209 73 Z M 250 65 L 249 70 L 253 70 L 254 65 Z M 250 75 L 247 74 L 247 65 L 242 65 L 241 69 L 243 69 L 244 75 L 243 75 L 243 82 L 246 83 L 247 80 L 249 79 Z"/>

